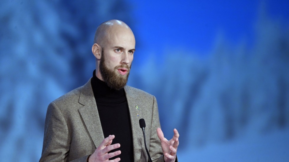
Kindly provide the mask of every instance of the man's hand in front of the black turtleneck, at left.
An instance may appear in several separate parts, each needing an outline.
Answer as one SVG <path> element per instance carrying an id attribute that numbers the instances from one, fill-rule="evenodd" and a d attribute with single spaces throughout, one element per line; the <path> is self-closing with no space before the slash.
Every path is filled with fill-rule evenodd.
<path id="1" fill-rule="evenodd" d="M 89 162 L 104 162 L 104 161 L 105 162 L 118 162 L 120 161 L 120 158 L 109 160 L 109 158 L 117 156 L 121 153 L 120 150 L 112 152 L 112 153 L 108 153 L 109 151 L 120 147 L 119 143 L 111 145 L 113 139 L 114 139 L 114 135 L 109 135 L 108 137 L 106 137 L 101 142 L 101 144 L 95 149 L 93 154 L 91 154 L 88 161 Z"/>

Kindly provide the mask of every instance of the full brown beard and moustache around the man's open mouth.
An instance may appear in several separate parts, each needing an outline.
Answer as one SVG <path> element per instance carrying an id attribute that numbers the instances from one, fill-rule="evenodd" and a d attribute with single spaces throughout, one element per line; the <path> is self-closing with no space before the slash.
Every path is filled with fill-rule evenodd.
<path id="1" fill-rule="evenodd" d="M 131 66 L 130 66 L 131 67 Z M 114 67 L 114 70 L 110 70 L 105 65 L 105 58 L 104 58 L 104 49 L 101 51 L 101 59 L 99 63 L 99 71 L 102 76 L 102 79 L 109 86 L 111 89 L 120 90 L 124 88 L 127 84 L 127 79 L 129 77 L 130 67 L 128 65 L 119 65 Z M 121 75 L 117 71 L 119 68 L 127 68 L 127 74 Z"/>

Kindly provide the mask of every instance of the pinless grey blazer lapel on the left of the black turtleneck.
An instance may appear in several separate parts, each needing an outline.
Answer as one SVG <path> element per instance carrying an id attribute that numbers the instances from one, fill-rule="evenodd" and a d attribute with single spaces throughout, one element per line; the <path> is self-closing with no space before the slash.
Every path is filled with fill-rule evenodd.
<path id="1" fill-rule="evenodd" d="M 81 118 L 95 147 L 98 147 L 104 140 L 104 134 L 91 87 L 91 79 L 83 86 L 78 102 L 83 105 L 82 108 L 78 109 Z"/>

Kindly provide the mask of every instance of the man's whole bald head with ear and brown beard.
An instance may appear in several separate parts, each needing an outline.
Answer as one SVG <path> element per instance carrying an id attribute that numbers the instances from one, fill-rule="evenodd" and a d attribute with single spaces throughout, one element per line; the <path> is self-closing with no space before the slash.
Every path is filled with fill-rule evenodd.
<path id="1" fill-rule="evenodd" d="M 96 77 L 111 88 L 123 87 L 127 82 L 134 48 L 134 34 L 127 24 L 119 20 L 100 24 L 92 46 L 92 53 L 96 58 Z M 121 80 L 121 84 L 116 83 Z"/>

